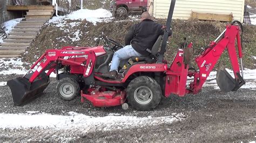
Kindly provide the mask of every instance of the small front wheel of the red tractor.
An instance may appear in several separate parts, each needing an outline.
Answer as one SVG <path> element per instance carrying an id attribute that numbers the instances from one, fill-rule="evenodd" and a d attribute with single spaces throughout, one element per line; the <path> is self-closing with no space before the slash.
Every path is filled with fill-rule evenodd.
<path id="1" fill-rule="evenodd" d="M 76 80 L 65 77 L 56 86 L 58 96 L 64 101 L 72 101 L 80 93 L 80 87 Z"/>

